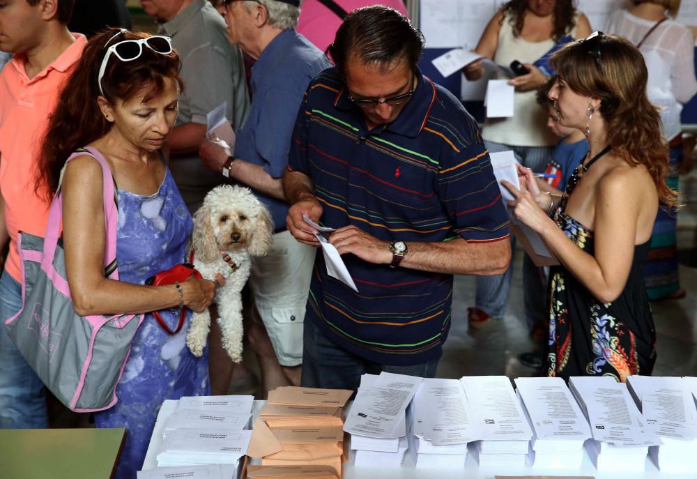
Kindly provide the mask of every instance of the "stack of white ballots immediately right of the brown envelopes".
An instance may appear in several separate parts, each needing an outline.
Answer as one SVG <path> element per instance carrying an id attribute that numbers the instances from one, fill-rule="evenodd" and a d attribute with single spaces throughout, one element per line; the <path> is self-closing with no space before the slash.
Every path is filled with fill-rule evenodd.
<path id="1" fill-rule="evenodd" d="M 363 374 L 344 422 L 356 467 L 399 467 L 408 449 L 406 409 L 423 379 L 381 372 Z"/>

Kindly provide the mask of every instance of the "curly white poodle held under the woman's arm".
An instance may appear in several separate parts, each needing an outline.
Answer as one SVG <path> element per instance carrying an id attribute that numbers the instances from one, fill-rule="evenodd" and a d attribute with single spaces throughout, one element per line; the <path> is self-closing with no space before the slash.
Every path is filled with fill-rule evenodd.
<path id="1" fill-rule="evenodd" d="M 273 225 L 266 206 L 249 188 L 222 185 L 206 195 L 194 213 L 194 267 L 207 280 L 225 278 L 215 295 L 222 346 L 233 361 L 242 360 L 242 297 L 250 275 L 252 256 L 263 256 L 271 247 Z M 194 313 L 186 344 L 201 356 L 210 328 L 210 312 Z"/>

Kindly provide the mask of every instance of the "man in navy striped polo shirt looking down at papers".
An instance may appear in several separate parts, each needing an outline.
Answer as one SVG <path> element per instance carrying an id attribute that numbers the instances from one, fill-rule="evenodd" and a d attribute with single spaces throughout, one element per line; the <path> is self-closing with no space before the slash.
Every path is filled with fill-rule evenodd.
<path id="1" fill-rule="evenodd" d="M 358 387 L 381 371 L 434 377 L 450 328 L 452 275 L 492 275 L 510 261 L 508 220 L 474 119 L 417 63 L 423 37 L 396 10 L 354 10 L 309 85 L 284 191 L 302 219 L 337 230 L 358 292 L 316 256 L 302 385 Z"/>

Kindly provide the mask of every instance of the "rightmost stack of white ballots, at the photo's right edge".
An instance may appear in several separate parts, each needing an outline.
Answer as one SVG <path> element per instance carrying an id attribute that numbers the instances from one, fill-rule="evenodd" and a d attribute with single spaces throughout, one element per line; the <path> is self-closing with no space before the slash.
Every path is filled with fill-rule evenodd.
<path id="1" fill-rule="evenodd" d="M 689 378 L 627 377 L 627 388 L 641 409 L 648 429 L 663 441 L 649 455 L 662 472 L 697 471 L 697 409 Z"/>

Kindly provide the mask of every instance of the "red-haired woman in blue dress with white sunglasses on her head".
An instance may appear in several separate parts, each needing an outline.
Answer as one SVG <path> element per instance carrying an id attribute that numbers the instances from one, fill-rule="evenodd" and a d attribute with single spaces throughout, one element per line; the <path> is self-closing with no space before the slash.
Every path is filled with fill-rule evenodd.
<path id="1" fill-rule="evenodd" d="M 196 358 L 185 346 L 187 326 L 168 335 L 149 312 L 162 310 L 164 321 L 176 326 L 181 306 L 201 311 L 210 305 L 215 283 L 191 277 L 144 285 L 183 262 L 192 230 L 162 155 L 177 115 L 179 68 L 167 37 L 109 29 L 90 40 L 50 119 L 37 184 L 54 195 L 62 170 L 63 247 L 75 310 L 148 313 L 132 340 L 118 402 L 94 415 L 97 427 L 127 429 L 118 478 L 141 469 L 162 401 L 210 390 L 206 355 Z M 102 169 L 84 147 L 104 156 L 116 183 L 118 281 L 104 271 Z"/>

